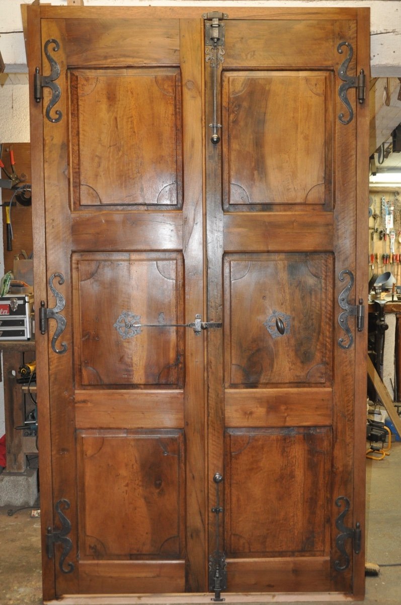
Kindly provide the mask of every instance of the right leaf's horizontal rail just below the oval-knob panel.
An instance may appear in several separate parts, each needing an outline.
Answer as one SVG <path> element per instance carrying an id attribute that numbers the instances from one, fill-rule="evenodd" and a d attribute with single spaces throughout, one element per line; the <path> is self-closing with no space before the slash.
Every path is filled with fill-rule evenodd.
<path id="1" fill-rule="evenodd" d="M 306 427 L 332 423 L 331 388 L 225 391 L 227 427 Z"/>

